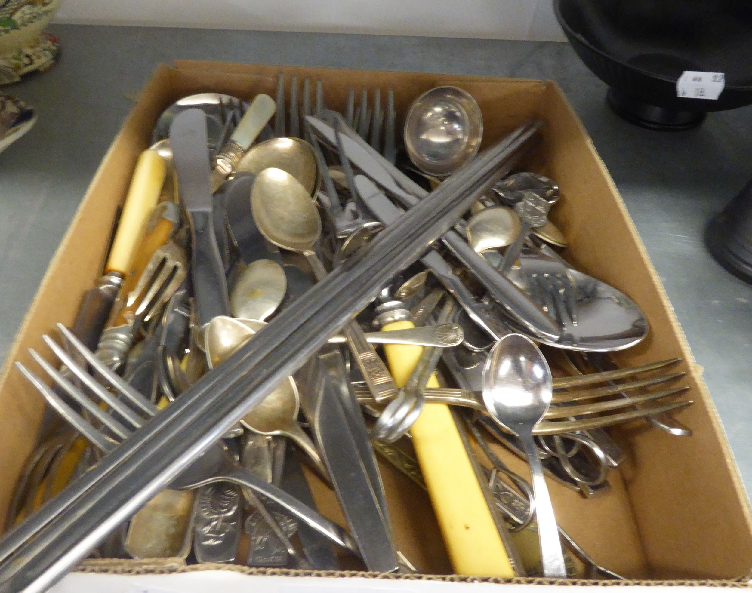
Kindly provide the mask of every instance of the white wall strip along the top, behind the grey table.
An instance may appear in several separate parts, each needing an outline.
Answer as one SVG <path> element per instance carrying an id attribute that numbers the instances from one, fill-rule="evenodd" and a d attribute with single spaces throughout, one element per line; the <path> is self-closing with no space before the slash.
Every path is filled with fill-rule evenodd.
<path id="1" fill-rule="evenodd" d="M 65 0 L 57 23 L 565 41 L 553 0 Z"/>

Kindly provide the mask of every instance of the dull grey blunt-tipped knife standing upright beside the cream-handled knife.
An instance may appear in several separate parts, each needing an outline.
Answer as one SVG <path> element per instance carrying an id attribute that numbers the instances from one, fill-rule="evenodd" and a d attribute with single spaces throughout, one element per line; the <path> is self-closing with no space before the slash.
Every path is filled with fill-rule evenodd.
<path id="1" fill-rule="evenodd" d="M 230 314 L 224 264 L 214 235 L 205 113 L 188 109 L 175 116 L 170 141 L 178 192 L 190 222 L 193 293 L 199 324 L 205 325 L 216 316 Z"/>

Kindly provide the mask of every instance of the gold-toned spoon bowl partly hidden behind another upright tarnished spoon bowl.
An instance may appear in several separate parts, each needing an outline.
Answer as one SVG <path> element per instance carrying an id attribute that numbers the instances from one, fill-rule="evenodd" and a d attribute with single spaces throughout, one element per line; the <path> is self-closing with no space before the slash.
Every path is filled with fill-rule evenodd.
<path id="1" fill-rule="evenodd" d="M 245 153 L 236 171 L 258 175 L 267 168 L 287 171 L 296 178 L 308 195 L 318 193 L 320 175 L 316 164 L 316 153 L 311 144 L 300 138 L 272 138 L 251 147 Z"/>

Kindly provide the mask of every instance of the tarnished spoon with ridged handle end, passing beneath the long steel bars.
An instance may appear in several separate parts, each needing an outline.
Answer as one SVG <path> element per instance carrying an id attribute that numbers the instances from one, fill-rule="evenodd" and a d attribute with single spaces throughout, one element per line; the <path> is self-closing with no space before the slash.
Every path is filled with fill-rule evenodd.
<path id="1" fill-rule="evenodd" d="M 313 249 L 321 234 L 321 219 L 311 196 L 295 177 L 281 169 L 265 169 L 253 183 L 250 207 L 256 226 L 268 241 L 302 254 L 317 280 L 326 277 L 326 269 Z M 345 325 L 344 334 L 374 397 L 383 401 L 396 394 L 387 367 L 365 340 L 357 322 Z"/>

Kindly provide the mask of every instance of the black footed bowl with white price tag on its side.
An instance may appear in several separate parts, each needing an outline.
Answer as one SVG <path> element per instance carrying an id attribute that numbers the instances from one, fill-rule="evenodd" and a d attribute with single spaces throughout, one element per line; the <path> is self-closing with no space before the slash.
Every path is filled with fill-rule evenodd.
<path id="1" fill-rule="evenodd" d="M 554 0 L 578 56 L 608 90 L 608 104 L 651 129 L 688 129 L 708 111 L 752 103 L 752 1 Z M 716 100 L 680 98 L 684 71 L 723 72 Z"/>

